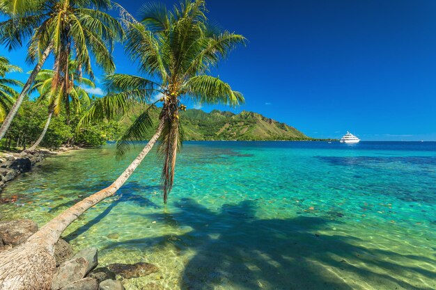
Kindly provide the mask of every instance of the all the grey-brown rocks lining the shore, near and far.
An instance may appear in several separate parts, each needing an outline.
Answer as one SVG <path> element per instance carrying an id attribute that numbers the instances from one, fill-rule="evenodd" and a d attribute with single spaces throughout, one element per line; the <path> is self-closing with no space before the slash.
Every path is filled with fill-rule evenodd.
<path id="1" fill-rule="evenodd" d="M 37 150 L 1 154 L 0 202 L 14 202 L 1 198 L 1 189 L 22 172 L 29 172 L 33 166 L 40 166 L 38 163 L 47 156 L 79 149 L 81 148 L 61 147 L 56 152 Z M 38 225 L 32 220 L 1 220 L 0 215 L 0 252 L 21 245 L 37 231 Z M 63 239 L 59 239 L 55 245 L 54 258 L 56 272 L 52 280 L 52 290 L 125 290 L 121 281 L 159 273 L 157 266 L 145 262 L 98 267 L 97 248 L 85 248 L 74 255 L 71 245 Z M 162 290 L 162 287 L 151 282 L 143 290 Z"/>

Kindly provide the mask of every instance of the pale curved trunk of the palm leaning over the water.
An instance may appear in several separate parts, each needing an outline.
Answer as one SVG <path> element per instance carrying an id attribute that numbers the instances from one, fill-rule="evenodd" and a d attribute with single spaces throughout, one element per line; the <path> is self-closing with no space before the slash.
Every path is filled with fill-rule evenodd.
<path id="1" fill-rule="evenodd" d="M 155 135 L 148 141 L 141 153 L 123 174 L 107 188 L 77 202 L 62 214 L 52 219 L 24 244 L 0 252 L 0 290 L 48 290 L 52 287 L 52 275 L 56 268 L 53 257 L 54 245 L 63 231 L 90 207 L 105 198 L 114 195 L 123 186 L 162 133 L 164 122 L 161 120 Z"/>

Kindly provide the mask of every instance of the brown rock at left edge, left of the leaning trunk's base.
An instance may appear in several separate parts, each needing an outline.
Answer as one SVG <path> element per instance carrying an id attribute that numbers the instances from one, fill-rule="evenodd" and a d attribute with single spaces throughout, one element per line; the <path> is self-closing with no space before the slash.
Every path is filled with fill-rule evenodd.
<path id="1" fill-rule="evenodd" d="M 20 245 L 36 231 L 38 231 L 38 225 L 32 220 L 22 219 L 0 222 L 0 245 Z"/>

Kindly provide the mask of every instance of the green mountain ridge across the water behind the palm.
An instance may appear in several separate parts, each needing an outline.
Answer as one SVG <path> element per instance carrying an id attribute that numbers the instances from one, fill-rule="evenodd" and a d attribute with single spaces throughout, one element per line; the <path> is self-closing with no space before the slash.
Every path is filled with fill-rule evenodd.
<path id="1" fill-rule="evenodd" d="M 120 120 L 121 128 L 127 129 L 137 115 L 135 112 Z M 157 120 L 157 113 L 155 117 Z M 189 109 L 180 113 L 180 121 L 184 140 L 313 140 L 294 127 L 254 112 Z M 153 133 L 150 131 L 150 136 Z"/>

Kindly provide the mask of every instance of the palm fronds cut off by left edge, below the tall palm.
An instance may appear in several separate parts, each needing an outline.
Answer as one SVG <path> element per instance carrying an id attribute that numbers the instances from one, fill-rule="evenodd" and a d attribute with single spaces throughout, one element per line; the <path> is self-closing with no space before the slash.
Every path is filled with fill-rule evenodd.
<path id="1" fill-rule="evenodd" d="M 3 122 L 8 115 L 10 108 L 15 102 L 18 92 L 13 86 L 23 86 L 21 81 L 7 79 L 8 72 L 21 72 L 21 68 L 11 65 L 8 58 L 0 56 L 0 122 Z"/>

